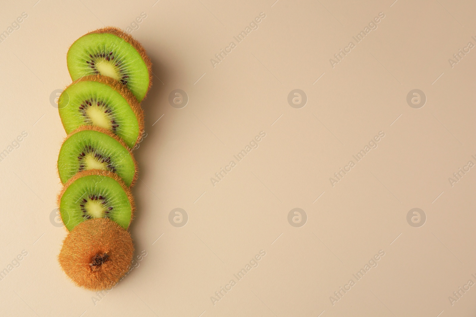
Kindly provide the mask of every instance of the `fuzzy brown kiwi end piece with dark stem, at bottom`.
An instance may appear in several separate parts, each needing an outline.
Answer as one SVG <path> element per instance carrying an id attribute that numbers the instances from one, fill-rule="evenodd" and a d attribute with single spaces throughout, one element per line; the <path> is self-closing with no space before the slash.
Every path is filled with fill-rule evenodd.
<path id="1" fill-rule="evenodd" d="M 134 244 L 128 231 L 105 218 L 78 224 L 63 241 L 58 261 L 78 286 L 110 289 L 129 271 Z"/>

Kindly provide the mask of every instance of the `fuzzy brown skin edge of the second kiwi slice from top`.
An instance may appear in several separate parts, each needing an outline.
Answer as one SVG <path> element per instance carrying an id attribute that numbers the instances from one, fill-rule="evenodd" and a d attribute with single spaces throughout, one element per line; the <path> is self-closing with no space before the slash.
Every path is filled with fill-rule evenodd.
<path id="1" fill-rule="evenodd" d="M 64 88 L 63 91 L 66 91 L 66 89 L 68 89 L 69 86 L 79 83 L 81 81 L 95 81 L 101 84 L 106 84 L 112 89 L 114 89 L 115 91 L 117 91 L 124 99 L 126 99 L 127 103 L 129 104 L 132 111 L 134 112 L 134 115 L 136 115 L 137 122 L 139 123 L 139 135 L 137 136 L 137 140 L 135 142 L 135 144 L 137 144 L 139 140 L 141 139 L 142 135 L 144 134 L 144 111 L 142 110 L 142 107 L 140 106 L 139 101 L 137 101 L 136 96 L 132 94 L 129 88 L 127 86 L 122 85 L 119 81 L 108 76 L 88 75 L 88 76 L 79 77 L 78 79 L 73 81 L 71 84 L 66 86 L 66 88 Z M 64 125 L 63 120 L 61 120 L 61 124 L 63 125 L 63 128 L 66 130 L 66 126 Z"/>

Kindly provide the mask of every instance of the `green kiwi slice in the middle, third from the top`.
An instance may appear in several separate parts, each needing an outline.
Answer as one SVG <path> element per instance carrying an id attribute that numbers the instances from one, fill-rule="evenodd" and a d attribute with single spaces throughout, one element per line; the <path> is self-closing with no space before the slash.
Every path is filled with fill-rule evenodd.
<path id="1" fill-rule="evenodd" d="M 61 145 L 58 174 L 65 184 L 76 173 L 92 169 L 116 173 L 128 187 L 138 172 L 134 155 L 121 139 L 106 129 L 82 125 Z"/>

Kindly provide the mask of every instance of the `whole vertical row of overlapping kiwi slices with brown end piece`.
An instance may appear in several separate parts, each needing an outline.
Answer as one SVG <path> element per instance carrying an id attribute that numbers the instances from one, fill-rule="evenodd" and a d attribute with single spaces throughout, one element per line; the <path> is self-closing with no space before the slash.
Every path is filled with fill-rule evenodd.
<path id="1" fill-rule="evenodd" d="M 144 132 L 140 102 L 152 64 L 137 40 L 107 27 L 76 40 L 67 65 L 73 82 L 58 99 L 68 134 L 58 156 L 58 207 L 69 232 L 58 259 L 76 285 L 101 290 L 124 277 L 134 253 L 132 149 Z"/>

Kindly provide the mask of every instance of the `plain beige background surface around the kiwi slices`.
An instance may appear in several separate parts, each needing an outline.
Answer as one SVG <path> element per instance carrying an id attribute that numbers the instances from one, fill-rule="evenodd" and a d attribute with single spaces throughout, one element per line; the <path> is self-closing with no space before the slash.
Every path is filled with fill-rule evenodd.
<path id="1" fill-rule="evenodd" d="M 476 283 L 476 168 L 448 181 L 476 163 L 476 49 L 448 62 L 476 44 L 474 1 L 36 1 L 0 10 L 0 31 L 28 14 L 0 43 L 0 151 L 28 133 L 0 162 L 0 270 L 28 252 L 0 281 L 1 316 L 474 316 L 476 287 L 448 299 Z M 50 215 L 65 132 L 50 95 L 71 82 L 75 39 L 126 29 L 141 12 L 131 34 L 156 76 L 142 103 L 131 233 L 147 256 L 99 296 L 56 261 L 66 232 Z M 258 29 L 214 68 L 260 12 Z M 378 28 L 331 67 L 379 12 Z M 406 101 L 416 88 L 427 98 L 419 109 Z M 169 104 L 174 89 L 188 95 L 182 109 Z M 307 95 L 300 109 L 288 104 L 293 89 Z M 259 147 L 212 186 L 260 131 Z M 378 147 L 332 187 L 379 131 Z M 174 208 L 188 214 L 181 228 L 169 223 Z M 293 208 L 307 214 L 300 228 L 288 223 Z M 407 223 L 412 208 L 425 212 L 422 227 Z M 260 250 L 258 267 L 213 305 Z M 378 266 L 332 305 L 379 250 Z"/>

